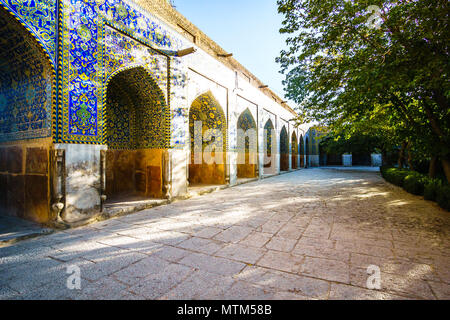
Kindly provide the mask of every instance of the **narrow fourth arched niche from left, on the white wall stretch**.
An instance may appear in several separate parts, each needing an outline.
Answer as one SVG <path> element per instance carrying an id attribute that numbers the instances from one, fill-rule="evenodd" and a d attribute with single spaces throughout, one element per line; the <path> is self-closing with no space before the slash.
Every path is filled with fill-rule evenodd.
<path id="1" fill-rule="evenodd" d="M 250 110 L 246 109 L 237 121 L 237 177 L 255 178 L 258 165 L 258 143 L 256 122 Z"/>

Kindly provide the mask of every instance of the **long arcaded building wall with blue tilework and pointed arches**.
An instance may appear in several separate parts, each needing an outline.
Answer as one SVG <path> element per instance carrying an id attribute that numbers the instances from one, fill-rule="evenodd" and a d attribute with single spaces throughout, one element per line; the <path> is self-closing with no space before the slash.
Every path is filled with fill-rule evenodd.
<path id="1" fill-rule="evenodd" d="M 72 223 L 121 200 L 183 197 L 190 192 L 187 185 L 275 175 L 280 168 L 289 170 L 291 159 L 296 168 L 298 144 L 292 144 L 292 158 L 289 144 L 301 130 L 284 121 L 278 145 L 279 119 L 295 112 L 278 97 L 253 89 L 239 93 L 249 102 L 240 109 L 232 102 L 238 96 L 235 83 L 224 80 L 228 71 L 213 73 L 218 66 L 236 70 L 209 55 L 179 56 L 190 43 L 159 25 L 158 18 L 145 17 L 145 10 L 139 17 L 128 12 L 122 22 L 133 26 L 139 18 L 144 30 L 143 22 L 152 21 L 147 37 L 137 29 L 108 31 L 107 45 L 98 53 L 93 35 L 100 24 L 78 30 L 63 25 L 61 34 L 69 36 L 52 47 L 52 3 L 16 1 L 11 8 L 0 2 L 0 214 Z M 82 10 L 91 4 L 64 13 L 82 20 Z M 37 7 L 42 10 L 33 11 Z M 139 41 L 143 38 L 148 42 Z M 155 48 L 162 49 L 158 57 Z M 199 64 L 206 66 L 204 72 L 197 72 Z M 202 94 L 188 103 L 193 92 Z M 228 124 L 228 117 L 236 122 Z M 291 130 L 297 132 L 292 141 Z M 237 149 L 228 149 L 228 135 L 237 139 Z M 111 203 L 104 205 L 105 196 Z"/>

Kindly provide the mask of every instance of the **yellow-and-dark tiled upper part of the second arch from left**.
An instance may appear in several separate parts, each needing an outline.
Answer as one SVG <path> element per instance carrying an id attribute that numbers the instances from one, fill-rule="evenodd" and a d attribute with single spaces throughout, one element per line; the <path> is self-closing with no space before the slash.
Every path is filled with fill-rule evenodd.
<path id="1" fill-rule="evenodd" d="M 169 147 L 169 108 L 147 69 L 122 69 L 108 78 L 106 88 L 104 138 L 110 149 Z"/>

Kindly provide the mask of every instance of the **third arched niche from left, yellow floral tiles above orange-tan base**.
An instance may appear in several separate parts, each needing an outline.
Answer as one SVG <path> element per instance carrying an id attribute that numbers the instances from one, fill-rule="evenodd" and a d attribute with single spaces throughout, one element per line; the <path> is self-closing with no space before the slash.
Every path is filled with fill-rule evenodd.
<path id="1" fill-rule="evenodd" d="M 211 93 L 194 100 L 189 110 L 189 185 L 226 183 L 226 128 L 225 114 Z"/>

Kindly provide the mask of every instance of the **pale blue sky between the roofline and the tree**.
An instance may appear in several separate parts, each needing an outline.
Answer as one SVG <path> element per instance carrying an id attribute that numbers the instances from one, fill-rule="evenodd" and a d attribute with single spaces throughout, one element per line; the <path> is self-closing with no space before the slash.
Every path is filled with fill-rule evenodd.
<path id="1" fill-rule="evenodd" d="M 283 16 L 276 0 L 174 0 L 176 9 L 206 35 L 250 70 L 262 82 L 284 97 L 275 63 L 285 36 L 279 29 Z M 294 107 L 292 102 L 289 103 Z"/>

